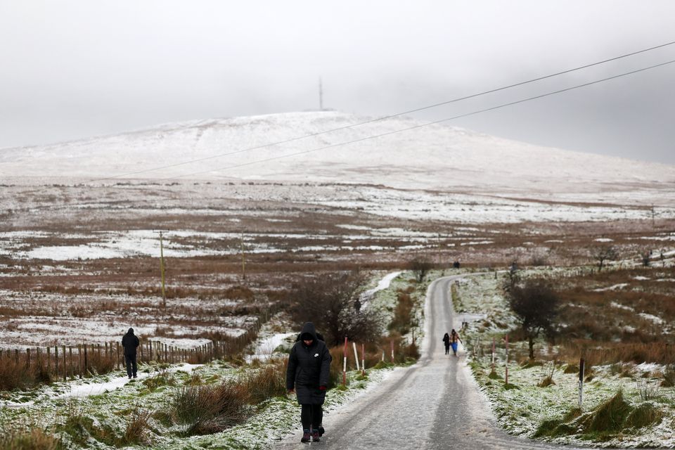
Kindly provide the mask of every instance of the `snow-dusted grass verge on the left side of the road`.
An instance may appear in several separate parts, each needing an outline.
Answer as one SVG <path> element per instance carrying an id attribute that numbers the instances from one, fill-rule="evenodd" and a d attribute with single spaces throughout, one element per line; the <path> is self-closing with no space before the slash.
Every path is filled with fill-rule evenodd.
<path id="1" fill-rule="evenodd" d="M 252 416 L 244 423 L 212 435 L 185 437 L 189 424 L 167 423 L 176 394 L 201 384 L 235 380 L 257 370 L 257 366 L 232 366 L 214 361 L 202 366 L 141 364 L 139 378 L 127 380 L 121 372 L 69 383 L 55 383 L 31 392 L 5 392 L 6 404 L 0 408 L 0 423 L 13 427 L 39 427 L 56 430 L 67 448 L 115 449 L 115 439 L 124 435 L 135 409 L 150 413 L 148 434 L 151 449 L 262 449 L 269 448 L 285 435 L 300 430 L 300 406 L 295 397 L 275 397 L 253 405 Z M 325 414 L 338 409 L 381 383 L 391 368 L 370 369 L 364 378 L 360 371 L 348 373 L 346 390 L 329 390 Z M 168 414 L 168 416 L 167 416 Z M 66 434 L 68 423 L 90 423 L 91 437 L 82 442 Z M 60 430 L 60 431 L 59 431 Z M 78 429 L 79 430 L 79 429 Z M 96 430 L 107 430 L 105 433 Z M 81 430 L 79 430 L 81 432 Z M 330 430 L 328 430 L 330 432 Z M 104 439 L 108 436 L 115 439 Z"/>

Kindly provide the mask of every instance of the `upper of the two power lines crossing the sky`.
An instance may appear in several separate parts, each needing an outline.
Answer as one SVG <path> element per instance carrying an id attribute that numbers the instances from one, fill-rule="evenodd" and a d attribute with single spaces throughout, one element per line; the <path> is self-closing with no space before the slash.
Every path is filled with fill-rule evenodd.
<path id="1" fill-rule="evenodd" d="M 634 52 L 631 52 L 631 53 L 626 53 L 626 54 L 621 55 L 621 56 L 615 56 L 614 58 L 608 58 L 608 59 L 605 59 L 605 60 L 598 61 L 596 63 L 580 65 L 577 68 L 562 70 L 560 72 L 555 72 L 555 73 L 552 73 L 550 75 L 544 75 L 543 77 L 536 77 L 536 78 L 528 79 L 527 81 L 524 81 L 524 82 L 509 84 L 508 86 L 501 86 L 501 87 L 496 88 L 496 89 L 490 89 L 488 91 L 482 91 L 482 92 L 478 92 L 476 94 L 470 94 L 468 96 L 453 98 L 452 100 L 443 101 L 443 102 L 440 102 L 440 103 L 434 103 L 432 105 L 422 106 L 420 108 L 415 108 L 415 109 L 412 109 L 412 110 L 403 111 L 401 113 L 394 113 L 394 114 L 391 114 L 391 115 L 376 117 L 374 119 L 366 120 L 364 122 L 357 122 L 355 124 L 345 125 L 344 127 L 337 127 L 337 128 L 333 128 L 333 129 L 327 129 L 325 131 L 319 131 L 319 132 L 316 132 L 316 133 L 305 134 L 303 136 L 296 136 L 296 137 L 293 137 L 293 138 L 290 138 L 290 139 L 285 139 L 283 141 L 266 143 L 266 144 L 263 144 L 261 146 L 241 148 L 239 150 L 234 150 L 234 151 L 231 151 L 229 153 L 221 153 L 219 155 L 211 155 L 211 156 L 207 156 L 205 158 L 197 158 L 197 159 L 194 159 L 194 160 L 188 160 L 188 161 L 184 161 L 184 162 L 176 162 L 174 164 L 153 167 L 153 168 L 150 168 L 150 169 L 143 169 L 143 170 L 137 170 L 137 171 L 134 171 L 134 172 L 127 172 L 127 173 L 124 173 L 124 174 L 106 176 L 105 178 L 91 179 L 89 182 L 106 181 L 106 180 L 109 180 L 109 179 L 117 179 L 117 178 L 131 176 L 131 175 L 138 175 L 138 174 L 145 174 L 145 173 L 148 173 L 148 172 L 155 172 L 155 171 L 162 170 L 162 169 L 171 169 L 172 167 L 180 167 L 180 166 L 183 166 L 183 165 L 194 164 L 195 162 L 203 162 L 203 161 L 212 160 L 212 159 L 215 159 L 215 158 L 224 158 L 226 156 L 236 155 L 238 153 L 244 153 L 244 152 L 248 152 L 248 151 L 252 151 L 252 150 L 260 150 L 262 148 L 278 146 L 278 145 L 281 145 L 281 144 L 284 144 L 284 143 L 289 143 L 289 142 L 294 142 L 294 141 L 300 141 L 301 139 L 309 139 L 309 138 L 314 137 L 314 136 L 321 136 L 322 134 L 333 133 L 335 131 L 341 131 L 341 130 L 344 130 L 344 129 L 360 127 L 361 125 L 366 125 L 366 124 L 370 124 L 370 123 L 373 123 L 373 122 L 379 122 L 381 120 L 392 119 L 394 117 L 399 117 L 401 115 L 419 113 L 420 111 L 423 111 L 423 110 L 438 108 L 439 106 L 449 105 L 451 103 L 456 103 L 458 101 L 464 101 L 464 100 L 468 100 L 470 98 L 484 96 L 484 95 L 487 95 L 487 94 L 494 94 L 495 92 L 503 91 L 503 90 L 506 90 L 506 89 L 511 89 L 513 87 L 518 87 L 518 86 L 523 86 L 523 85 L 529 84 L 529 83 L 539 82 L 541 80 L 552 78 L 552 77 L 558 77 L 560 75 L 565 75 L 565 74 L 570 73 L 570 72 L 576 72 L 577 70 L 583 70 L 583 69 L 591 68 L 591 67 L 596 66 L 596 65 L 610 63 L 611 61 L 619 60 L 619 59 L 622 59 L 622 58 L 628 58 L 629 56 L 635 56 L 639 53 L 645 53 L 645 52 L 648 52 L 648 51 L 661 49 L 663 47 L 670 46 L 672 44 L 675 44 L 675 41 L 671 41 L 671 42 L 667 42 L 665 44 L 653 46 L 653 47 L 650 47 L 648 49 L 643 49 L 643 50 L 638 50 L 638 51 L 634 51 Z"/>

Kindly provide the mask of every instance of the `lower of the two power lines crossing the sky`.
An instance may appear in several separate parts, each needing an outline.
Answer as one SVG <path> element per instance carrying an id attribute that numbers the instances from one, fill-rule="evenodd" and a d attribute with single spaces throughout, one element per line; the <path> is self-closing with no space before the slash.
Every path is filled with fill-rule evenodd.
<path id="1" fill-rule="evenodd" d="M 407 127 L 407 128 L 397 129 L 397 130 L 394 130 L 394 131 L 387 131 L 386 133 L 381 133 L 381 134 L 374 134 L 374 135 L 372 135 L 372 136 L 366 136 L 366 137 L 363 137 L 363 138 L 360 138 L 360 139 L 354 139 L 354 140 L 352 140 L 352 141 L 345 141 L 345 142 L 340 142 L 340 143 L 334 143 L 334 144 L 330 144 L 329 146 L 322 146 L 322 147 L 318 147 L 318 148 L 311 148 L 311 149 L 309 149 L 309 150 L 303 150 L 303 151 L 295 152 L 295 153 L 288 153 L 288 154 L 286 154 L 286 155 L 273 156 L 273 157 L 270 157 L 270 158 L 264 158 L 264 159 L 262 159 L 262 160 L 255 160 L 255 161 L 250 161 L 250 162 L 243 162 L 243 163 L 238 164 L 238 165 L 231 165 L 231 166 L 228 166 L 228 167 L 221 167 L 221 168 L 219 168 L 219 169 L 209 169 L 209 170 L 205 170 L 205 171 L 202 171 L 202 172 L 193 172 L 193 173 L 191 173 L 191 174 L 184 174 L 184 175 L 178 175 L 178 176 L 169 176 L 169 177 L 167 177 L 167 178 L 162 178 L 162 179 L 158 179 L 158 180 L 177 179 L 177 178 L 183 178 L 183 177 L 185 177 L 185 176 L 193 176 L 193 175 L 207 174 L 207 173 L 209 173 L 209 172 L 216 172 L 216 171 L 219 171 L 219 170 L 235 169 L 235 168 L 237 168 L 237 167 L 244 167 L 244 166 L 248 166 L 248 165 L 259 164 L 259 163 L 261 163 L 261 162 L 269 162 L 269 161 L 274 161 L 274 160 L 281 160 L 281 159 L 283 159 L 283 158 L 290 158 L 290 157 L 293 157 L 293 156 L 305 155 L 305 154 L 307 154 L 307 153 L 313 153 L 313 152 L 316 152 L 316 151 L 319 151 L 319 150 L 326 150 L 326 149 L 328 149 L 328 148 L 334 148 L 334 147 L 339 147 L 339 146 L 346 146 L 346 145 L 351 144 L 351 143 L 362 142 L 362 141 L 368 141 L 369 139 L 376 139 L 376 138 L 380 138 L 380 137 L 383 137 L 383 136 L 390 136 L 390 135 L 392 135 L 392 134 L 402 133 L 402 132 L 404 132 L 404 131 L 411 131 L 411 130 L 413 130 L 413 129 L 418 129 L 418 128 L 423 128 L 423 127 L 428 127 L 428 126 L 430 126 L 430 125 L 435 125 L 435 124 L 439 124 L 439 123 L 442 123 L 442 122 L 448 122 L 449 120 L 460 119 L 461 117 L 469 117 L 469 116 L 472 116 L 472 115 L 477 115 L 477 114 L 481 114 L 481 113 L 487 113 L 487 112 L 489 112 L 489 111 L 499 110 L 499 109 L 501 109 L 501 108 L 506 108 L 506 107 L 508 107 L 508 106 L 518 105 L 519 103 L 525 103 L 525 102 L 527 102 L 527 101 L 533 101 L 533 100 L 537 100 L 537 99 L 539 99 L 539 98 L 544 98 L 544 97 L 548 97 L 548 96 L 553 96 L 553 95 L 555 95 L 555 94 L 561 94 L 561 93 L 563 93 L 563 92 L 572 91 L 572 90 L 574 90 L 574 89 L 580 89 L 580 88 L 582 88 L 582 87 L 591 86 L 591 85 L 593 85 L 593 84 L 598 84 L 598 83 L 606 82 L 606 81 L 609 81 L 610 79 L 617 79 L 617 78 L 620 78 L 620 77 L 626 77 L 626 76 L 628 76 L 628 75 L 634 75 L 634 74 L 639 73 L 639 72 L 645 72 L 645 70 L 651 70 L 651 69 L 655 69 L 655 68 L 660 68 L 660 67 L 662 67 L 662 66 L 664 66 L 664 65 L 668 65 L 668 64 L 672 64 L 672 63 L 675 63 L 675 60 L 669 60 L 669 61 L 667 61 L 667 62 L 665 62 L 665 63 L 660 63 L 660 64 L 655 64 L 655 65 L 650 65 L 649 67 L 646 67 L 646 68 L 641 68 L 641 69 L 637 69 L 637 70 L 631 70 L 631 72 L 624 72 L 624 73 L 619 74 L 619 75 L 614 75 L 614 76 L 612 76 L 612 77 L 607 77 L 607 78 L 603 78 L 603 79 L 597 79 L 596 81 L 593 81 L 593 82 L 588 82 L 588 83 L 584 83 L 584 84 L 578 84 L 577 86 L 571 86 L 571 87 L 567 87 L 567 88 L 565 88 L 565 89 L 558 89 L 558 91 L 547 92 L 546 94 L 541 94 L 541 95 L 538 95 L 538 96 L 532 96 L 532 97 L 528 97 L 528 98 L 522 98 L 521 100 L 518 100 L 518 101 L 512 101 L 512 102 L 509 102 L 509 103 L 502 103 L 501 105 L 492 106 L 491 108 L 484 108 L 484 109 L 481 109 L 481 110 L 472 111 L 471 113 L 465 113 L 465 114 L 456 115 L 456 116 L 453 116 L 453 117 L 446 117 L 446 118 L 441 119 L 441 120 L 435 120 L 435 121 L 433 121 L 433 122 L 427 122 L 427 123 L 424 123 L 424 124 L 418 124 L 418 125 L 415 125 L 415 126 L 413 126 L 413 127 Z"/>

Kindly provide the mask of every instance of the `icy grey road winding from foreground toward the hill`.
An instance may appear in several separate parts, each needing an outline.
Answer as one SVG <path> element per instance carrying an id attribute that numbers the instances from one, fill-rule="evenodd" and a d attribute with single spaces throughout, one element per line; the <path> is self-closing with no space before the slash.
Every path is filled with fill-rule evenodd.
<path id="1" fill-rule="evenodd" d="M 326 435 L 311 445 L 332 449 L 571 448 L 519 439 L 499 430 L 463 365 L 463 349 L 458 357 L 445 354 L 443 334 L 461 324 L 453 316 L 449 294 L 456 278 L 460 277 L 440 278 L 430 285 L 418 364 L 394 371 L 352 404 L 327 414 L 323 418 Z M 306 448 L 307 444 L 300 443 L 300 424 L 298 428 L 274 448 Z"/>

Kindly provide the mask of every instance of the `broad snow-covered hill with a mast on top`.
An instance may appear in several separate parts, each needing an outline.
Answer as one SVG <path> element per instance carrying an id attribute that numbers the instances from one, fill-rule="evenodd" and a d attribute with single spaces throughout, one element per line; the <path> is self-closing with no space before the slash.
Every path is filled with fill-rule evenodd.
<path id="1" fill-rule="evenodd" d="M 339 181 L 541 194 L 675 186 L 672 165 L 544 148 L 444 124 L 420 127 L 425 122 L 406 117 L 351 127 L 367 120 L 333 111 L 284 113 L 6 148 L 0 178 Z M 295 139 L 302 136 L 309 137 Z M 277 142 L 283 143 L 267 146 Z"/>

